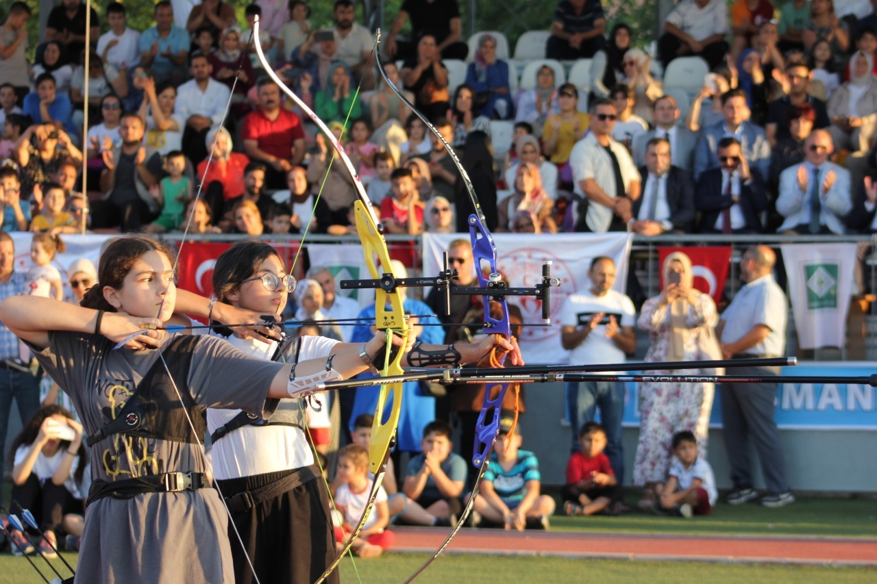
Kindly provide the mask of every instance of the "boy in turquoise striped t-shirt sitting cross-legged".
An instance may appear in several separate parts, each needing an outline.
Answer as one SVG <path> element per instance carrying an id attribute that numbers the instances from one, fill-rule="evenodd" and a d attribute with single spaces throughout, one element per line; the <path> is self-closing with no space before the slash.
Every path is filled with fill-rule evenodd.
<path id="1" fill-rule="evenodd" d="M 538 459 L 532 452 L 519 450 L 521 434 L 517 426 L 512 432 L 512 425 L 510 417 L 499 422 L 494 452 L 481 481 L 481 496 L 474 502 L 478 515 L 472 523 L 477 525 L 483 518 L 504 525 L 505 531 L 545 530 L 548 517 L 554 513 L 554 500 L 539 494 L 542 476 Z"/>

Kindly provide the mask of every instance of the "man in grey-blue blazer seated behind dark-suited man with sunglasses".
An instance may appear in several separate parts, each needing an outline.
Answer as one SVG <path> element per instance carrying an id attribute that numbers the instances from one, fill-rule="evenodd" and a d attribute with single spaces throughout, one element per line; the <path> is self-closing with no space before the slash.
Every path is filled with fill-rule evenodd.
<path id="1" fill-rule="evenodd" d="M 700 180 L 704 170 L 718 167 L 719 140 L 737 139 L 743 156 L 761 176 L 767 175 L 770 164 L 770 143 L 759 125 L 747 121 L 750 116 L 746 106 L 746 94 L 742 89 L 731 89 L 722 96 L 724 122 L 703 128 L 695 151 L 695 180 Z"/>

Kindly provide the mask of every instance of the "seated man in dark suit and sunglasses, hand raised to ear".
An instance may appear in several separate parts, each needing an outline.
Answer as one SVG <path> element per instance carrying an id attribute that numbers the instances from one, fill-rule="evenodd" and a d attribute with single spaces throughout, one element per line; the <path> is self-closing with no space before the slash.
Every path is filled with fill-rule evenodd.
<path id="1" fill-rule="evenodd" d="M 718 141 L 719 167 L 710 168 L 697 181 L 695 208 L 701 233 L 760 233 L 759 214 L 767 210 L 765 182 L 756 168 L 750 168 L 736 138 Z"/>

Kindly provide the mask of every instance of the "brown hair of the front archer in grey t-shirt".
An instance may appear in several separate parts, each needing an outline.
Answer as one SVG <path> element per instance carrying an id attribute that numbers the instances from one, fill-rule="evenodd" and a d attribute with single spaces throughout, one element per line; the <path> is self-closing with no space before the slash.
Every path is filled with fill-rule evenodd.
<path id="1" fill-rule="evenodd" d="M 103 287 L 122 289 L 125 285 L 125 276 L 131 272 L 134 262 L 149 252 L 164 253 L 171 264 L 176 257 L 176 250 L 173 247 L 146 236 L 134 235 L 111 240 L 103 249 L 97 267 L 97 281 L 100 285 L 89 288 L 85 296 L 82 296 L 80 305 L 95 310 L 116 312 L 116 308 L 103 297 Z"/>

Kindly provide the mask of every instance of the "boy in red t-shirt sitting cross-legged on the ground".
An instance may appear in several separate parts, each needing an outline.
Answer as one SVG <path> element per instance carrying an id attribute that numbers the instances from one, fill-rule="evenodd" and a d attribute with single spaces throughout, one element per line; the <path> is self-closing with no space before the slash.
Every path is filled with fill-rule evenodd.
<path id="1" fill-rule="evenodd" d="M 620 508 L 618 482 L 609 458 L 603 454 L 606 431 L 588 422 L 579 431 L 581 450 L 567 462 L 567 484 L 561 494 L 567 515 L 594 515 L 603 511 L 617 515 Z"/>

